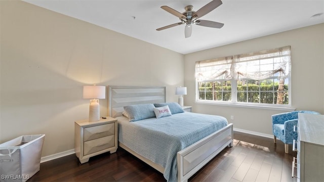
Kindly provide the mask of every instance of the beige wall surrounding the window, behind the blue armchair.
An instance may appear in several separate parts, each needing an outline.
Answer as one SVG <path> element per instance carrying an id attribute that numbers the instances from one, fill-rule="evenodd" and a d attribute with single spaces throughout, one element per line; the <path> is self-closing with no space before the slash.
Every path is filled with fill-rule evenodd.
<path id="1" fill-rule="evenodd" d="M 295 29 L 247 41 L 224 45 L 185 55 L 185 105 L 194 112 L 221 115 L 235 128 L 272 134 L 271 115 L 287 112 L 279 110 L 225 107 L 195 103 L 195 61 L 218 58 L 291 45 L 292 52 L 292 107 L 324 114 L 324 24 Z M 217 41 L 217 40 L 216 40 Z M 234 120 L 230 120 L 230 116 Z"/>

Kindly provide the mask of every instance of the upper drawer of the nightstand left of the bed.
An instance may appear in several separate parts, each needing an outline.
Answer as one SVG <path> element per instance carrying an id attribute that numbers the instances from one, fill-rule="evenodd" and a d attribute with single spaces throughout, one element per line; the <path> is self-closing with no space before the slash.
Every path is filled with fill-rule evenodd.
<path id="1" fill-rule="evenodd" d="M 115 123 L 84 128 L 84 142 L 115 134 Z"/>

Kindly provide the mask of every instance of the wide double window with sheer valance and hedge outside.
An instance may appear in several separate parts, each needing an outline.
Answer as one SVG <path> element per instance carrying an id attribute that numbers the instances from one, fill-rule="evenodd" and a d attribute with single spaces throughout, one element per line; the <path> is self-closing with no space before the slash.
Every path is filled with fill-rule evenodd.
<path id="1" fill-rule="evenodd" d="M 195 65 L 197 101 L 290 106 L 290 46 Z"/>

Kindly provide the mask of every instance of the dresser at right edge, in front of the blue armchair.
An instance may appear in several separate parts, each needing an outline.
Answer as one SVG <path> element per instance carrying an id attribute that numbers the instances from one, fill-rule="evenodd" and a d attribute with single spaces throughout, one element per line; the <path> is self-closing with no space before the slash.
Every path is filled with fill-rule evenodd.
<path id="1" fill-rule="evenodd" d="M 298 114 L 297 181 L 324 181 L 324 115 Z M 293 145 L 295 147 L 295 145 Z M 296 148 L 294 149 L 296 150 Z"/>

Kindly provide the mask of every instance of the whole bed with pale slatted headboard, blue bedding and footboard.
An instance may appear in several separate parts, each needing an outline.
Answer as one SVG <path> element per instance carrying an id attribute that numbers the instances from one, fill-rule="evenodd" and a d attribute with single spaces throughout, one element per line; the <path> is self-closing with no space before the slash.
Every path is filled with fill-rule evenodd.
<path id="1" fill-rule="evenodd" d="M 163 173 L 168 181 L 187 181 L 233 144 L 233 126 L 224 117 L 179 111 L 181 108 L 174 103 L 166 103 L 166 87 L 109 86 L 108 89 L 108 111 L 109 116 L 118 120 L 119 147 Z M 134 117 L 123 116 L 130 108 L 151 109 L 152 103 L 167 105 L 171 116 L 137 118 L 133 122 L 130 118 Z M 137 115 L 142 116 L 145 113 Z M 174 135 L 178 138 L 174 139 Z"/>

